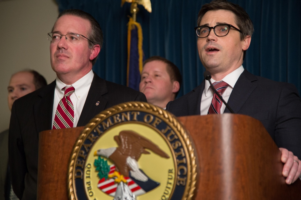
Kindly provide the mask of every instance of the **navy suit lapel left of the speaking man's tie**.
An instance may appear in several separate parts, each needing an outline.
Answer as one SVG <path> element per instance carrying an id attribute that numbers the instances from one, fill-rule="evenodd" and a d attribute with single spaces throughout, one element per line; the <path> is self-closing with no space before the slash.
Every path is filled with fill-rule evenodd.
<path id="1" fill-rule="evenodd" d="M 187 98 L 188 103 L 188 115 L 200 115 L 201 114 L 201 100 L 202 93 L 205 88 L 205 79 L 203 82 L 193 89 L 194 92 Z M 195 104 L 197 102 L 197 104 Z"/>

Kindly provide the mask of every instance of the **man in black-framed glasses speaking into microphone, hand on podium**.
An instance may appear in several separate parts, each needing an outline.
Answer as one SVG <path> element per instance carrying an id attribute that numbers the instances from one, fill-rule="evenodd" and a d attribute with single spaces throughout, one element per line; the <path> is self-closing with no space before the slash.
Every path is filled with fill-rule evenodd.
<path id="1" fill-rule="evenodd" d="M 242 63 L 254 31 L 249 15 L 238 5 L 215 0 L 198 14 L 197 47 L 200 60 L 211 73 L 213 87 L 237 114 L 249 115 L 265 126 L 282 152 L 286 183 L 301 173 L 301 100 L 296 87 L 250 74 Z M 210 79 L 210 78 L 209 78 Z M 213 93 L 208 80 L 188 94 L 169 102 L 176 116 L 229 113 Z M 293 155 L 295 154 L 295 155 Z M 297 157 L 298 156 L 298 157 Z"/>

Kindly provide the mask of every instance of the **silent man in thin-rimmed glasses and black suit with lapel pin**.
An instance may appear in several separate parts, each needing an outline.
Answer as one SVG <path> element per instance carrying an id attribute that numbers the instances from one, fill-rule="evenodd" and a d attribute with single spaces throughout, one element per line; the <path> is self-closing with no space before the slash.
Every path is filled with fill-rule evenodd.
<path id="1" fill-rule="evenodd" d="M 11 182 L 22 200 L 36 199 L 39 132 L 85 126 L 96 114 L 113 105 L 146 102 L 143 93 L 93 73 L 103 36 L 90 14 L 80 10 L 63 11 L 48 33 L 48 40 L 56 80 L 16 100 L 11 111 Z"/>

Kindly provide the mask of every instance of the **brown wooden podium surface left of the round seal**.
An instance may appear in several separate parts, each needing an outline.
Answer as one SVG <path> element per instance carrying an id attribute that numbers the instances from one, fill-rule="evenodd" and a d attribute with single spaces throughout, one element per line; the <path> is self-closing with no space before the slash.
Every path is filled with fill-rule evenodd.
<path id="1" fill-rule="evenodd" d="M 67 171 L 70 154 L 84 127 L 40 132 L 38 200 L 68 200 Z"/>

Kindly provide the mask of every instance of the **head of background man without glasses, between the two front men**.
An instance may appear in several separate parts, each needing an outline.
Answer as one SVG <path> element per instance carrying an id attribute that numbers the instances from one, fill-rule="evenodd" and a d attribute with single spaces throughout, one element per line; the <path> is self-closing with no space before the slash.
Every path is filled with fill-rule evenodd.
<path id="1" fill-rule="evenodd" d="M 148 103 L 165 109 L 168 102 L 175 100 L 181 83 L 180 71 L 171 61 L 152 56 L 143 62 L 139 91 Z"/>

